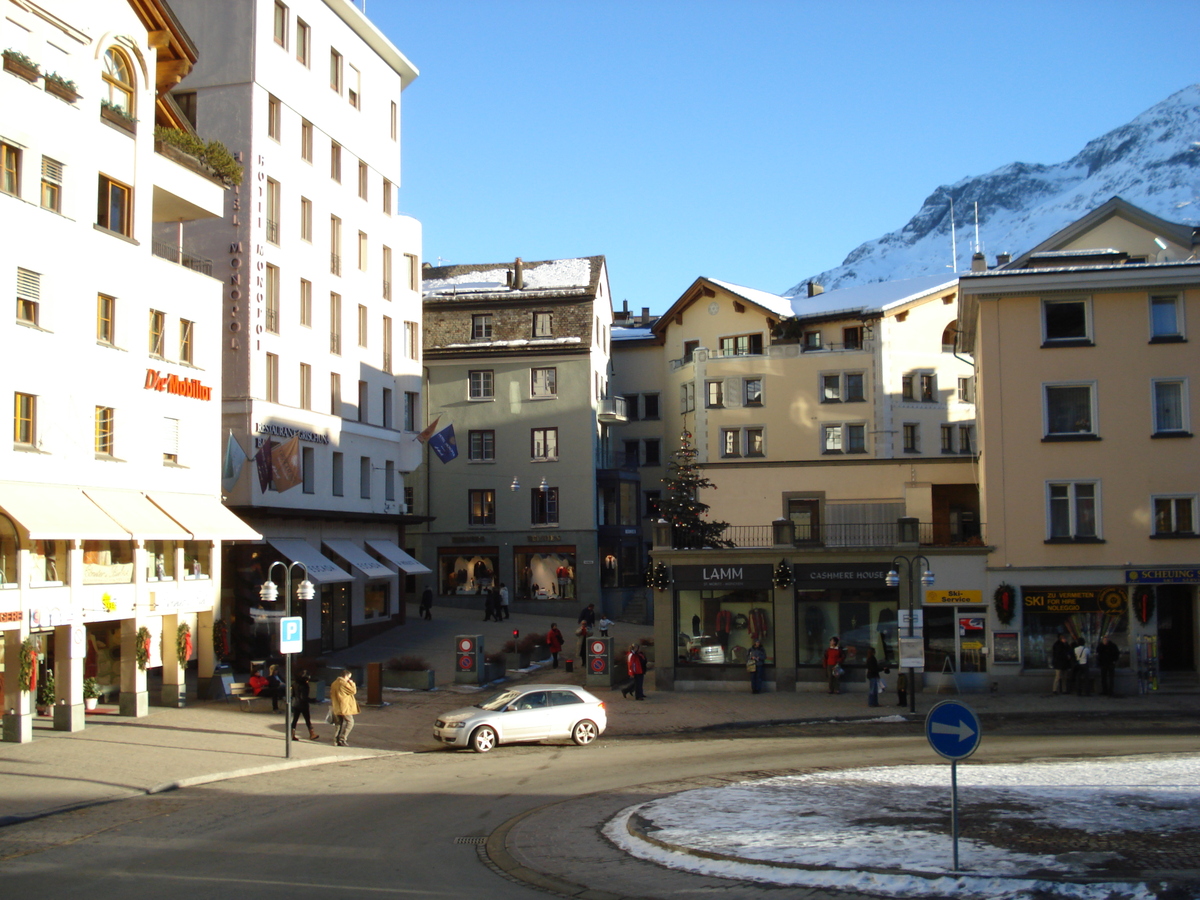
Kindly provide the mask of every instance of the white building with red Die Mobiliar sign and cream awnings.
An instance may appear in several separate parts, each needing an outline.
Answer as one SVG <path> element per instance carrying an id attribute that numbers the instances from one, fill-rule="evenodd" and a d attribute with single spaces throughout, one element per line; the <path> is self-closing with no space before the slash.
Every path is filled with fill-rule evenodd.
<path id="1" fill-rule="evenodd" d="M 227 186 L 155 140 L 185 125 L 167 91 L 194 46 L 157 0 L 96 0 L 6 4 L 0 47 L 0 631 L 20 742 L 23 673 L 53 673 L 38 700 L 67 731 L 85 677 L 142 715 L 148 667 L 168 703 L 188 659 L 211 674 L 222 541 L 258 535 L 220 500 L 221 283 L 179 245 Z"/>

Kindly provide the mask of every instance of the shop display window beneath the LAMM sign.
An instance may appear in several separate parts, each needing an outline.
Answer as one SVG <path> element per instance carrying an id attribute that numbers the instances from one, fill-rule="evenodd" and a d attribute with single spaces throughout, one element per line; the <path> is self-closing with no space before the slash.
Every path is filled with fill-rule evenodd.
<path id="1" fill-rule="evenodd" d="M 677 660 L 684 665 L 745 665 L 754 641 L 775 662 L 775 607 L 769 590 L 680 590 Z"/>

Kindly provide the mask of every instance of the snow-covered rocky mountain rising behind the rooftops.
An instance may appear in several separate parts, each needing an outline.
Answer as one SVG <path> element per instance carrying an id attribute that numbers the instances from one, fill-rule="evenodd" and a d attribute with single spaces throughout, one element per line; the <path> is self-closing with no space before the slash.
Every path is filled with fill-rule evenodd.
<path id="1" fill-rule="evenodd" d="M 829 290 L 947 272 L 952 198 L 961 271 L 971 268 L 977 202 L 980 242 L 995 264 L 997 253 L 1022 253 L 1115 196 L 1170 222 L 1200 224 L 1200 84 L 1088 142 L 1066 162 L 1014 162 L 938 187 L 899 232 L 863 244 L 785 295 L 805 293 L 810 281 Z"/>

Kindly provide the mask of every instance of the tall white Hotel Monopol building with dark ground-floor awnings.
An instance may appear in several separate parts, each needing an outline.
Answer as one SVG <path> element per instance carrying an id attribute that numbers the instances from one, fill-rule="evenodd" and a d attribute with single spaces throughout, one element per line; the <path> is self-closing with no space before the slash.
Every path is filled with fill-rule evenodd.
<path id="1" fill-rule="evenodd" d="M 223 425 L 252 458 L 226 503 L 268 541 L 227 560 L 233 649 L 266 653 L 259 584 L 272 562 L 300 562 L 318 589 L 302 613 L 316 655 L 400 620 L 404 575 L 426 571 L 401 550 L 422 419 L 420 226 L 397 209 L 416 70 L 346 0 L 175 12 L 200 60 L 173 97 L 246 167 L 221 221 L 193 232 L 224 282 Z M 253 457 L 272 449 L 268 484 Z"/>

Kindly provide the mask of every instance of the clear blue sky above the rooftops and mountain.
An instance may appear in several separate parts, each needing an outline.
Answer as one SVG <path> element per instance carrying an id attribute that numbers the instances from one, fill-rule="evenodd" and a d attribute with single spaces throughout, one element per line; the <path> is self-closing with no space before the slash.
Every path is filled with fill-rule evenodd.
<path id="1" fill-rule="evenodd" d="M 1055 163 L 1200 80 L 1200 4 L 368 0 L 420 70 L 426 260 L 602 253 L 614 305 L 784 292 L 938 185 Z M 1020 250 L 1020 248 L 1018 248 Z"/>

